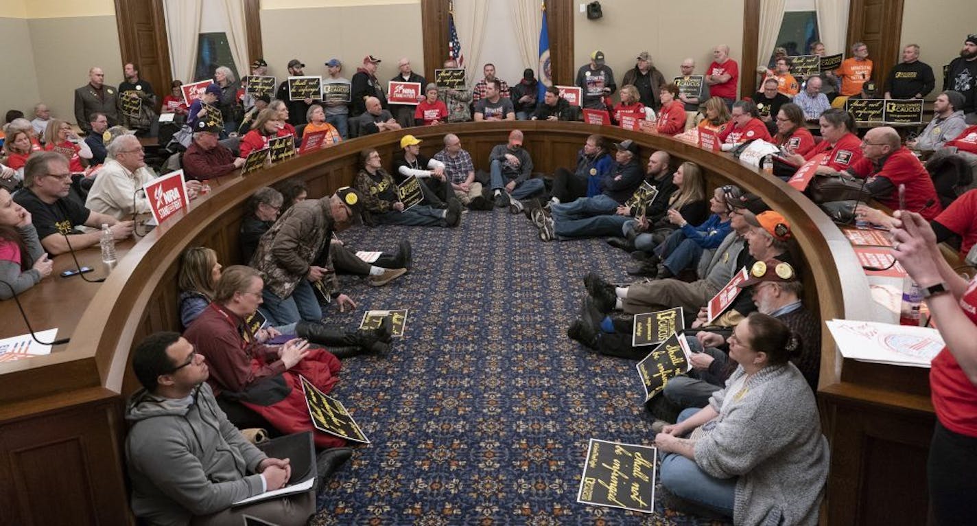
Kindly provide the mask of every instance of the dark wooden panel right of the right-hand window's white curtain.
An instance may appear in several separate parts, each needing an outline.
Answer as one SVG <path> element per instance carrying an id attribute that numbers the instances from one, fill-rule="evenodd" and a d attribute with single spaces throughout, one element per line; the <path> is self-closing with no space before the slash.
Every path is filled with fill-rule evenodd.
<path id="1" fill-rule="evenodd" d="M 883 93 L 885 75 L 899 63 L 902 26 L 903 0 L 851 0 L 845 57 L 851 56 L 855 42 L 869 46 L 871 79 L 879 96 Z"/>

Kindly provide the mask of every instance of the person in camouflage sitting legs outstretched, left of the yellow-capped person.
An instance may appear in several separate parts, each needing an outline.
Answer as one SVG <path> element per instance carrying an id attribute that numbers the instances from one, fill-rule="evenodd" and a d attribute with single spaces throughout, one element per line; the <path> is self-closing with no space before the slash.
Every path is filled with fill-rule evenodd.
<path id="1" fill-rule="evenodd" d="M 363 150 L 360 160 L 363 167 L 355 184 L 363 197 L 362 206 L 369 220 L 384 225 L 415 227 L 457 227 L 461 224 L 461 201 L 458 199 L 451 197 L 446 210 L 426 204 L 404 208 L 397 183 L 383 169 L 380 153 L 373 148 Z"/>

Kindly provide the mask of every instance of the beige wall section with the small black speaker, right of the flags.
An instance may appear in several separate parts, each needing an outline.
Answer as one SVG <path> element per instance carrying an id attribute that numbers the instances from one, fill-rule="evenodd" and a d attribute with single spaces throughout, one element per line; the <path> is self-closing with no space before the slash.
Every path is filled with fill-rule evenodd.
<path id="1" fill-rule="evenodd" d="M 596 21 L 579 12 L 580 3 L 584 2 L 574 3 L 574 67 L 587 64 L 590 53 L 601 50 L 614 69 L 618 87 L 642 51 L 651 53 L 667 79 L 679 74 L 678 66 L 687 57 L 696 60 L 696 72 L 701 74 L 712 62 L 712 47 L 717 44 L 728 45 L 730 56 L 743 66 L 743 0 L 605 0 L 601 2 L 604 18 Z"/>

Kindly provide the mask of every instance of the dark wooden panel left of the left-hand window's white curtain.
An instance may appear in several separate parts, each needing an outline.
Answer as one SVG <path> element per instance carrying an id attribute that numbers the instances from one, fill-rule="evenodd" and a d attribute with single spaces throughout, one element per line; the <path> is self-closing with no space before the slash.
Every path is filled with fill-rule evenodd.
<path id="1" fill-rule="evenodd" d="M 115 0 L 121 69 L 127 63 L 139 66 L 139 77 L 156 92 L 156 108 L 170 92 L 170 46 L 166 38 L 166 18 L 162 0 Z M 189 80 L 189 79 L 188 79 Z"/>

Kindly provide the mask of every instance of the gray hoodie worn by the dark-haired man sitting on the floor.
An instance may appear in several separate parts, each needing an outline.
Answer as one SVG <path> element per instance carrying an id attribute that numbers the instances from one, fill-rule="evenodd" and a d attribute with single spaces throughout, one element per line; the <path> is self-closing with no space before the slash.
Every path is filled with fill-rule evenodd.
<path id="1" fill-rule="evenodd" d="M 129 400 L 126 462 L 132 510 L 151 524 L 187 525 L 262 493 L 267 459 L 217 406 L 203 383 L 173 400 L 141 389 Z"/>

